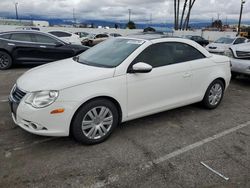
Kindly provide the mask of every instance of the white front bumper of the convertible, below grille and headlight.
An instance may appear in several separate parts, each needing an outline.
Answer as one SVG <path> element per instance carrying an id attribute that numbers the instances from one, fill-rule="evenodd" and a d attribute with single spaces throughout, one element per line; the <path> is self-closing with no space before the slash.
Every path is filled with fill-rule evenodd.
<path id="1" fill-rule="evenodd" d="M 73 102 L 54 102 L 52 105 L 36 109 L 26 104 L 24 100 L 20 103 L 9 98 L 12 119 L 16 125 L 30 133 L 41 136 L 68 136 L 70 123 L 73 117 Z M 64 108 L 61 114 L 50 114 L 57 108 Z"/>

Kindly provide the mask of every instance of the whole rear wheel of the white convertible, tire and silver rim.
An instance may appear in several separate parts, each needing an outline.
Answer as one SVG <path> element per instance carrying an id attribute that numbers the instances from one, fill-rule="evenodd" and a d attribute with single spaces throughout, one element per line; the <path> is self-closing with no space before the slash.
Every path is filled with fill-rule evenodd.
<path id="1" fill-rule="evenodd" d="M 214 80 L 207 88 L 205 96 L 202 100 L 204 107 L 215 109 L 221 103 L 225 90 L 224 83 L 217 79 Z"/>

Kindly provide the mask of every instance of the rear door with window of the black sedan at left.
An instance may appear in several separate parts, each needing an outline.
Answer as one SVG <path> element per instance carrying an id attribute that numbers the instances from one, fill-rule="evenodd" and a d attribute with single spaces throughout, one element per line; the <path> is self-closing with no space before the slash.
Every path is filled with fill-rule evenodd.
<path id="1" fill-rule="evenodd" d="M 12 46 L 12 57 L 17 63 L 36 62 L 37 44 L 34 43 L 31 33 L 15 32 L 10 36 L 8 46 Z"/>

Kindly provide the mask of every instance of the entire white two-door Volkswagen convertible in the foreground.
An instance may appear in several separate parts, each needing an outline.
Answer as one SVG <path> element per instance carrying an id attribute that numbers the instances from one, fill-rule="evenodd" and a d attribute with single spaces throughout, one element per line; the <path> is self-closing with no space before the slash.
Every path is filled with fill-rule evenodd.
<path id="1" fill-rule="evenodd" d="M 24 130 L 95 144 L 120 122 L 196 102 L 216 108 L 230 78 L 229 58 L 196 42 L 131 36 L 31 69 L 9 100 L 13 120 Z"/>

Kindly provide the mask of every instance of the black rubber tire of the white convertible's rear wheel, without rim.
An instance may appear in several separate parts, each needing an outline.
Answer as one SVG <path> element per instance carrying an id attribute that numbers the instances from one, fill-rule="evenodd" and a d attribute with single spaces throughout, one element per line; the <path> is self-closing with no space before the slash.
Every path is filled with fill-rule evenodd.
<path id="1" fill-rule="evenodd" d="M 221 85 L 221 87 L 222 87 L 222 96 L 221 96 L 221 99 L 220 99 L 220 101 L 216 104 L 216 105 L 211 105 L 210 103 L 209 103 L 209 93 L 210 93 L 210 90 L 211 90 L 211 88 L 215 85 L 215 84 L 220 84 Z M 225 90 L 225 85 L 224 85 L 224 83 L 221 81 L 221 80 L 214 80 L 209 86 L 208 86 L 208 88 L 207 88 L 207 91 L 206 91 L 206 94 L 205 94 L 205 96 L 204 96 L 204 98 L 203 98 L 203 105 L 206 107 L 206 108 L 208 108 L 208 109 L 215 109 L 215 108 L 217 108 L 219 105 L 220 105 L 220 103 L 221 103 L 221 101 L 222 101 L 222 99 L 223 99 L 223 96 L 224 96 L 224 90 Z"/>

